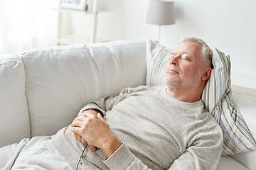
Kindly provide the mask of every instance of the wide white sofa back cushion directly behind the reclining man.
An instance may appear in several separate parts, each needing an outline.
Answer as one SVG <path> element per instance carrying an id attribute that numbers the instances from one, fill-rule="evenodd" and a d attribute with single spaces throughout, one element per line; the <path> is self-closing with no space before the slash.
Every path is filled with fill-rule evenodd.
<path id="1" fill-rule="evenodd" d="M 146 40 L 48 47 L 21 57 L 32 136 L 53 135 L 85 103 L 146 80 Z"/>

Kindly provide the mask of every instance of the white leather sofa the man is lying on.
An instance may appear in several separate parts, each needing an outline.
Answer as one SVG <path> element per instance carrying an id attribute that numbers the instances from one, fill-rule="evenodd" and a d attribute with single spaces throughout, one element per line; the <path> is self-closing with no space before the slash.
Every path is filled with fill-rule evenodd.
<path id="1" fill-rule="evenodd" d="M 146 82 L 146 40 L 66 45 L 0 55 L 0 147 L 53 135 L 101 96 Z M 233 100 L 256 137 L 256 103 Z M 255 123 L 255 124 L 254 124 Z M 222 156 L 218 169 L 256 169 L 256 152 Z"/>

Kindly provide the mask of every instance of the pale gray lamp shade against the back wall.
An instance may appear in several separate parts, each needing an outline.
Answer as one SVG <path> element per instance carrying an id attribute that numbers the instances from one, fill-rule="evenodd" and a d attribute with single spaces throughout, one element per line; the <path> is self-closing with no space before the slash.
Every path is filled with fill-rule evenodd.
<path id="1" fill-rule="evenodd" d="M 174 1 L 150 0 L 146 23 L 159 26 L 174 24 Z"/>

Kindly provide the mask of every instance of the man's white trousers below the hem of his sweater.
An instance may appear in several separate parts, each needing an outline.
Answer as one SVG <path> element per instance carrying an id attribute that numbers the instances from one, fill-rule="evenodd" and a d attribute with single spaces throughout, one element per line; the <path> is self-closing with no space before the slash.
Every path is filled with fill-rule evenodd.
<path id="1" fill-rule="evenodd" d="M 49 137 L 23 139 L 0 148 L 0 169 L 72 169 Z"/>

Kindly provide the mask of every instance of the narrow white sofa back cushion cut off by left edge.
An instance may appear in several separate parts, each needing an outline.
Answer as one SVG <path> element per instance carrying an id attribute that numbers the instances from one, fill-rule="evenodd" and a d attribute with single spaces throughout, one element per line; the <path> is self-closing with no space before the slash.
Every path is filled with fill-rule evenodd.
<path id="1" fill-rule="evenodd" d="M 0 147 L 31 137 L 25 72 L 18 55 L 0 55 Z"/>

